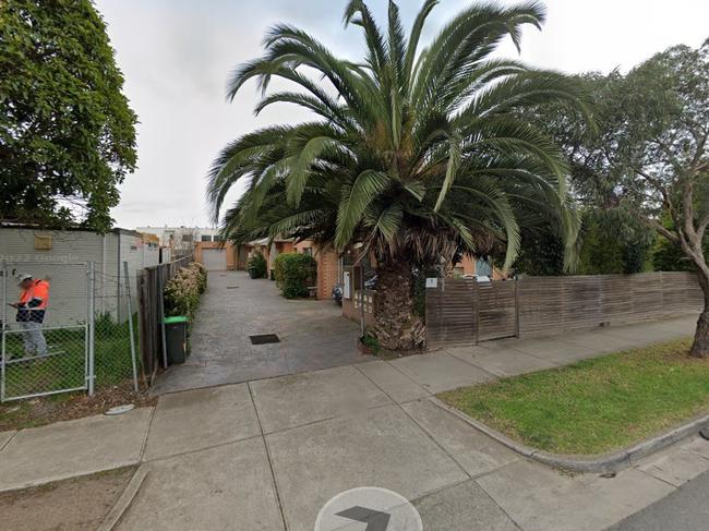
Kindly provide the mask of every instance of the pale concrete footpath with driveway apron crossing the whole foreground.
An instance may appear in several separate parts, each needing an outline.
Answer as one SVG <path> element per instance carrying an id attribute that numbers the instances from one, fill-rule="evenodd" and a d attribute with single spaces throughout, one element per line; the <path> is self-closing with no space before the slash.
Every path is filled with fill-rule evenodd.
<path id="1" fill-rule="evenodd" d="M 426 530 L 601 530 L 709 470 L 709 443 L 683 442 L 612 479 L 570 476 L 512 452 L 429 397 L 686 336 L 693 323 L 371 361 L 0 434 L 0 491 L 141 462 L 147 476 L 121 530 L 312 530 L 332 496 L 357 486 L 411 499 Z"/>

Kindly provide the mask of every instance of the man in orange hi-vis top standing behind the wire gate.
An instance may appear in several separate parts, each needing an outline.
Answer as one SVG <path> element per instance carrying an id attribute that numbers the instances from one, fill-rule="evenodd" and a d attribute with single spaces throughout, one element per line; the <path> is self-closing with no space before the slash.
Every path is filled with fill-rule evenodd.
<path id="1" fill-rule="evenodd" d="M 41 333 L 41 323 L 49 304 L 49 282 L 35 280 L 29 274 L 19 276 L 20 301 L 10 304 L 17 310 L 17 323 L 23 329 L 25 352 L 29 355 L 45 355 L 47 341 Z"/>

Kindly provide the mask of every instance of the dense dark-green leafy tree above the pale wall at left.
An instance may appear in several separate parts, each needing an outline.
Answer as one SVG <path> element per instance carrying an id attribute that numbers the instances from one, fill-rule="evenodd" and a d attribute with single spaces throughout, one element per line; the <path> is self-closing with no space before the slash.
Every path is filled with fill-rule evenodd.
<path id="1" fill-rule="evenodd" d="M 135 113 L 89 0 L 0 1 L 0 219 L 105 231 Z"/>

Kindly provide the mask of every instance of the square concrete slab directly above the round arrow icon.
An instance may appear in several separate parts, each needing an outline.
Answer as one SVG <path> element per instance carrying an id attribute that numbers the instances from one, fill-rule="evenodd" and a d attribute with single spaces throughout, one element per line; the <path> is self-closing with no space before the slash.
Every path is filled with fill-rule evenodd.
<path id="1" fill-rule="evenodd" d="M 336 494 L 378 486 L 416 499 L 468 475 L 398 407 L 266 436 L 289 529 L 312 529 Z"/>

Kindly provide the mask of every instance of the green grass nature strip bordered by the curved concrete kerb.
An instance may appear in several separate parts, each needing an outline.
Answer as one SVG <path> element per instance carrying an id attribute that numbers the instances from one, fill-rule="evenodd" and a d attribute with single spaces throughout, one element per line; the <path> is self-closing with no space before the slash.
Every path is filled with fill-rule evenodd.
<path id="1" fill-rule="evenodd" d="M 603 454 L 709 412 L 709 360 L 681 340 L 438 395 L 529 446 Z"/>

